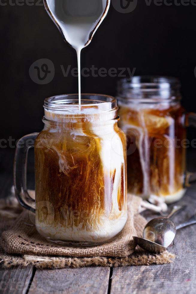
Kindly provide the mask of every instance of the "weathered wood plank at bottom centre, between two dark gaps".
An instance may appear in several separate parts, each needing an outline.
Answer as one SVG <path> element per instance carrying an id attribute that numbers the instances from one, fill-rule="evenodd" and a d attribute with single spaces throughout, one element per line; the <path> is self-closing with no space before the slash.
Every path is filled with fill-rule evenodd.
<path id="1" fill-rule="evenodd" d="M 109 267 L 37 269 L 29 293 L 105 294 Z"/>

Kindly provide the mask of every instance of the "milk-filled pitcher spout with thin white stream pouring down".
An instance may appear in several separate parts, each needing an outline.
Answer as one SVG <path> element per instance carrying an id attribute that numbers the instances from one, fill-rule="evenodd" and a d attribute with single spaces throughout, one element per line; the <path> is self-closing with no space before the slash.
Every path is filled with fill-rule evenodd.
<path id="1" fill-rule="evenodd" d="M 47 12 L 65 40 L 77 52 L 79 104 L 81 104 L 80 55 L 105 18 L 110 0 L 44 0 Z"/>

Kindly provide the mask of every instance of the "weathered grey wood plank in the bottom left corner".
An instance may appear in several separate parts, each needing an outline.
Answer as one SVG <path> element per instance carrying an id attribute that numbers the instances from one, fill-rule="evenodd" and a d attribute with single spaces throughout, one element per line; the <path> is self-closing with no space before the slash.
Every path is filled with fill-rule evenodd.
<path id="1" fill-rule="evenodd" d="M 0 268 L 0 294 L 25 294 L 28 291 L 33 267 Z"/>

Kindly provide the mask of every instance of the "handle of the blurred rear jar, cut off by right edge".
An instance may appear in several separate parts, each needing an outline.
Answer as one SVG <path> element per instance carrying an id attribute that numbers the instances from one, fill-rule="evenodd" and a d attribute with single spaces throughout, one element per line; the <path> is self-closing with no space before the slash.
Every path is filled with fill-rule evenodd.
<path id="1" fill-rule="evenodd" d="M 185 116 L 185 126 L 196 128 L 196 113 L 189 112 Z M 196 182 L 196 173 L 186 172 L 185 174 L 185 187 L 190 187 Z"/>

